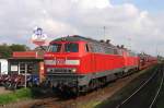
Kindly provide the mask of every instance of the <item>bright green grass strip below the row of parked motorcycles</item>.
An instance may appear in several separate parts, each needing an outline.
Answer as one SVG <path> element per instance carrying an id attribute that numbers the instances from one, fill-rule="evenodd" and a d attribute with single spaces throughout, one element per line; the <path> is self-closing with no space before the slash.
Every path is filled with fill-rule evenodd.
<path id="1" fill-rule="evenodd" d="M 32 98 L 32 91 L 30 88 L 21 88 L 12 93 L 0 95 L 0 105 L 19 101 L 21 99 Z"/>

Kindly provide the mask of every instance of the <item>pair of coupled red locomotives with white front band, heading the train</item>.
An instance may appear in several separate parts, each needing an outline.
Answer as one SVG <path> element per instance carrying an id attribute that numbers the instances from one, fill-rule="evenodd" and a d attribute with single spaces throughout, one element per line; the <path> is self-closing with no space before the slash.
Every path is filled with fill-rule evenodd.
<path id="1" fill-rule="evenodd" d="M 141 67 L 134 52 L 78 35 L 52 40 L 44 59 L 46 81 L 72 92 L 97 88 Z"/>

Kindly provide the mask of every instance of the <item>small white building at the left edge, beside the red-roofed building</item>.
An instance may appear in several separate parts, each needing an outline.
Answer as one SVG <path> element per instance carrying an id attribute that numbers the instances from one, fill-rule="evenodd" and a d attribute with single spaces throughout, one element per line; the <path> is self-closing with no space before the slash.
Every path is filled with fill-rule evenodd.
<path id="1" fill-rule="evenodd" d="M 0 59 L 0 74 L 8 74 L 8 60 Z"/>

